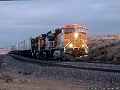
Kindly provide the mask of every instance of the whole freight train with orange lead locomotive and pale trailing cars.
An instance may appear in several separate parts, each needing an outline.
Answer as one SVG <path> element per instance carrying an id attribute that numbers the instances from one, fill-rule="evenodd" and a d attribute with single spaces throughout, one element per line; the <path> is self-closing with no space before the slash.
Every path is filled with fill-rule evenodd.
<path id="1" fill-rule="evenodd" d="M 66 25 L 11 47 L 11 52 L 34 58 L 75 60 L 88 54 L 87 28 Z"/>

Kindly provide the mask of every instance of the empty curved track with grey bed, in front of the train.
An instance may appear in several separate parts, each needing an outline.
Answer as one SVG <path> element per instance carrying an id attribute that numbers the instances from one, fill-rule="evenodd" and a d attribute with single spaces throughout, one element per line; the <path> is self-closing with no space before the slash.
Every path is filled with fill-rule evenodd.
<path id="1" fill-rule="evenodd" d="M 109 63 L 98 63 L 98 62 L 81 62 L 81 61 L 63 61 L 63 60 L 43 60 L 43 59 L 34 59 L 28 58 L 20 55 L 10 54 L 12 57 L 17 59 L 21 59 L 23 61 L 29 61 L 32 63 L 49 65 L 49 66 L 58 66 L 58 67 L 66 67 L 66 68 L 76 68 L 76 69 L 85 69 L 85 70 L 96 70 L 106 72 L 120 72 L 120 64 L 109 64 Z"/>

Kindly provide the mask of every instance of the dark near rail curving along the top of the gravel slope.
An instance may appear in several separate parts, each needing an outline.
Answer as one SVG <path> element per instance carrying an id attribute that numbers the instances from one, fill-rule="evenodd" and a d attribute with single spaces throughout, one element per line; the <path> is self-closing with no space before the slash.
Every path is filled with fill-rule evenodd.
<path id="1" fill-rule="evenodd" d="M 33 59 L 28 57 L 23 57 L 19 55 L 12 55 L 10 56 L 17 58 L 22 61 L 37 63 L 43 66 L 54 66 L 54 67 L 64 67 L 64 68 L 73 68 L 73 69 L 82 69 L 82 70 L 93 70 L 93 71 L 103 71 L 103 72 L 113 72 L 113 73 L 120 73 L 120 70 L 115 69 L 105 69 L 105 68 L 98 68 L 98 67 L 89 67 L 89 66 L 78 66 L 78 65 L 69 65 L 69 64 L 62 64 L 59 61 L 47 61 L 47 60 L 40 60 L 40 59 Z"/>

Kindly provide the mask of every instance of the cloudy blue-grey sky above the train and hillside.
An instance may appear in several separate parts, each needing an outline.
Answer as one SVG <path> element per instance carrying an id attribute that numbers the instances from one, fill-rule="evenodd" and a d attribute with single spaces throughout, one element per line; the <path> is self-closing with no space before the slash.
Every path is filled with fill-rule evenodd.
<path id="1" fill-rule="evenodd" d="M 0 1 L 0 47 L 68 24 L 85 26 L 88 35 L 120 34 L 120 0 Z"/>

